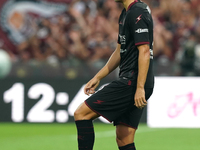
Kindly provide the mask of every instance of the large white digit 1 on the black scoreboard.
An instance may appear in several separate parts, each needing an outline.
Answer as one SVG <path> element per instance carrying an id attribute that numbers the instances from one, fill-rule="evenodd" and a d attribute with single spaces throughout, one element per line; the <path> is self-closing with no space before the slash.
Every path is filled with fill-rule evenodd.
<path id="1" fill-rule="evenodd" d="M 14 122 L 22 122 L 24 120 L 24 85 L 15 83 L 4 92 L 5 103 L 11 103 L 11 119 Z"/>

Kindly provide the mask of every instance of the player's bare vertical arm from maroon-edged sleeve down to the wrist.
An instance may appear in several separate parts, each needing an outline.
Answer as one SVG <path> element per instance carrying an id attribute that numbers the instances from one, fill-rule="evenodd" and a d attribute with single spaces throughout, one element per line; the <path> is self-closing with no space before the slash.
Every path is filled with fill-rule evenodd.
<path id="1" fill-rule="evenodd" d="M 150 51 L 148 45 L 139 46 L 138 49 L 139 49 L 139 58 L 138 58 L 137 88 L 144 88 L 147 73 L 149 70 Z"/>

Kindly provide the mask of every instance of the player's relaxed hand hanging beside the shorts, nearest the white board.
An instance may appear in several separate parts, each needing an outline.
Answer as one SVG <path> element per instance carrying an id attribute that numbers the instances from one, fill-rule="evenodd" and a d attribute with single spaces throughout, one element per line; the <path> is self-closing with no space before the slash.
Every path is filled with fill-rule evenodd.
<path id="1" fill-rule="evenodd" d="M 144 88 L 137 88 L 136 92 L 135 92 L 135 106 L 137 108 L 142 109 L 144 106 L 147 105 L 147 101 L 145 99 L 145 91 Z"/>

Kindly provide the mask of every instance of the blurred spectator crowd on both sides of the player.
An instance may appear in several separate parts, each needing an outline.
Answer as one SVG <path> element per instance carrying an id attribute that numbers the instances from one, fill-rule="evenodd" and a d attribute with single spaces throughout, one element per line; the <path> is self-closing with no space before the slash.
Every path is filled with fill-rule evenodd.
<path id="1" fill-rule="evenodd" d="M 154 20 L 156 75 L 200 75 L 200 1 L 142 0 Z M 123 6 L 114 0 L 72 0 L 67 11 L 32 23 L 13 60 L 102 67 L 115 50 Z"/>

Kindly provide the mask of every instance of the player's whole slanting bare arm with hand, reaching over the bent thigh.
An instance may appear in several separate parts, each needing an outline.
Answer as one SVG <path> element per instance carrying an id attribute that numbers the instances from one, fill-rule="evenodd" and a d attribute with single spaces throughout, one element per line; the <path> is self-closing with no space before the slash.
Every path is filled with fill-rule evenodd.
<path id="1" fill-rule="evenodd" d="M 86 84 L 84 88 L 85 94 L 93 94 L 95 92 L 95 88 L 99 85 L 100 80 L 106 77 L 109 73 L 111 73 L 119 66 L 120 48 L 121 45 L 117 44 L 115 51 L 110 56 L 106 65 Z"/>

